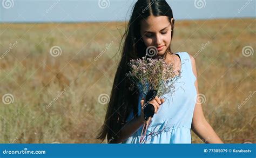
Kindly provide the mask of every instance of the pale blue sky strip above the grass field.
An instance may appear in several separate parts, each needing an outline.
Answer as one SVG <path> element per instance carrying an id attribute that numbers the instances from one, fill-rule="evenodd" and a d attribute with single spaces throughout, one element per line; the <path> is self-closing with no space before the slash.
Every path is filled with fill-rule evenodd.
<path id="1" fill-rule="evenodd" d="M 10 3 L 8 3 L 8 2 Z M 102 0 L 104 1 L 104 0 Z M 127 20 L 136 1 L 1 0 L 0 22 L 102 22 Z M 168 1 L 175 19 L 255 18 L 255 0 Z M 104 5 L 106 4 L 106 5 Z"/>

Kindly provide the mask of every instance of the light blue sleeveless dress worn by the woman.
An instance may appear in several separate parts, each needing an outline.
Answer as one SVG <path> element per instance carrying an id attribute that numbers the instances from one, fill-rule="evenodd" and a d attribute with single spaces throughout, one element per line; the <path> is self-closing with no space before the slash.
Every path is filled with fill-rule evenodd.
<path id="1" fill-rule="evenodd" d="M 194 86 L 196 77 L 192 71 L 189 54 L 187 52 L 175 54 L 178 54 L 181 60 L 181 77 L 175 84 L 176 91 L 174 94 L 165 94 L 161 97 L 165 98 L 165 102 L 154 114 L 143 143 L 191 143 L 190 129 L 197 101 L 197 90 Z M 142 98 L 143 95 L 140 92 L 138 115 L 141 113 L 140 100 Z M 133 113 L 130 113 L 126 121 L 129 122 L 132 118 Z M 142 129 L 143 125 L 122 143 L 139 143 Z"/>

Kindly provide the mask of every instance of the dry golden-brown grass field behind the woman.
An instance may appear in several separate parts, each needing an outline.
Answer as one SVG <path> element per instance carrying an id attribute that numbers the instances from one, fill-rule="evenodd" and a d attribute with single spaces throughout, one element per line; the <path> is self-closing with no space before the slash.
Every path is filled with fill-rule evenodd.
<path id="1" fill-rule="evenodd" d="M 99 143 L 124 25 L 0 24 L 0 142 Z M 255 19 L 176 21 L 173 51 L 196 59 L 225 143 L 256 143 L 255 31 Z M 192 132 L 192 143 L 204 142 Z"/>

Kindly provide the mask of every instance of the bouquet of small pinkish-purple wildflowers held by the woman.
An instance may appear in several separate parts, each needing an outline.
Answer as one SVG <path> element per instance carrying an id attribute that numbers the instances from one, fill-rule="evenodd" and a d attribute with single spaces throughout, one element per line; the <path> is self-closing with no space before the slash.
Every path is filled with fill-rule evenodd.
<path id="1" fill-rule="evenodd" d="M 132 59 L 129 66 L 130 72 L 127 73 L 126 76 L 132 83 L 130 90 L 133 90 L 134 87 L 138 87 L 140 92 L 143 93 L 143 96 L 150 91 L 156 92 L 159 98 L 163 97 L 165 94 L 173 94 L 176 89 L 174 83 L 180 78 L 181 74 L 181 72 L 176 74 L 173 64 L 166 63 L 162 57 L 153 59 L 146 58 L 145 56 L 142 59 Z M 151 118 L 152 117 L 144 123 L 141 140 L 144 140 Z"/>

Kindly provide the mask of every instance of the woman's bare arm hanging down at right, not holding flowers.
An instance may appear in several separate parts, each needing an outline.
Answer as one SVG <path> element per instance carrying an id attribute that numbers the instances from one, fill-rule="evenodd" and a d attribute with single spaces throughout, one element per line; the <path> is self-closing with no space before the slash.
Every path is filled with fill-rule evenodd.
<path id="1" fill-rule="evenodd" d="M 191 63 L 192 63 L 193 73 L 197 78 L 196 61 L 194 60 L 194 58 L 191 55 L 190 55 L 190 59 L 191 59 Z M 194 84 L 196 86 L 197 94 L 198 94 L 197 79 Z M 194 114 L 193 114 L 193 120 L 192 120 L 192 130 L 205 143 L 223 143 L 223 141 L 220 140 L 219 136 L 214 132 L 211 125 L 206 121 L 204 113 L 203 113 L 202 105 L 200 102 L 197 102 L 197 104 L 194 108 Z"/>

